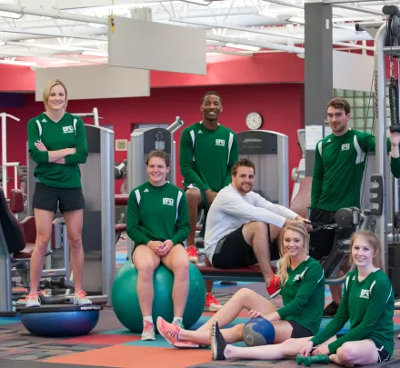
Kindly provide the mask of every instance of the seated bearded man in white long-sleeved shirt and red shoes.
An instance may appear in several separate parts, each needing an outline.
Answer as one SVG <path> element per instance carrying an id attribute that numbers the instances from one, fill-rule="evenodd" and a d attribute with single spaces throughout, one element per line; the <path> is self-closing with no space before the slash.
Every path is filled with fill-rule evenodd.
<path id="1" fill-rule="evenodd" d="M 205 224 L 205 255 L 216 268 L 240 268 L 259 264 L 266 291 L 279 293 L 280 281 L 271 270 L 271 260 L 279 259 L 275 242 L 285 224 L 307 223 L 283 205 L 268 202 L 252 192 L 255 164 L 243 158 L 232 168 L 232 182 L 211 204 Z M 311 225 L 305 224 L 311 229 Z"/>

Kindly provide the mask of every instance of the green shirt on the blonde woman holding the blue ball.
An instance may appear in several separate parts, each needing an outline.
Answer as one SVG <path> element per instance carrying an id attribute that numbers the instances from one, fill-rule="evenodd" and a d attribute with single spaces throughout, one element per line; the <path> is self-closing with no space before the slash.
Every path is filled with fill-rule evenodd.
<path id="1" fill-rule="evenodd" d="M 294 270 L 281 287 L 284 306 L 276 312 L 285 321 L 295 321 L 313 334 L 319 331 L 325 305 L 325 276 L 321 264 L 308 257 Z"/>

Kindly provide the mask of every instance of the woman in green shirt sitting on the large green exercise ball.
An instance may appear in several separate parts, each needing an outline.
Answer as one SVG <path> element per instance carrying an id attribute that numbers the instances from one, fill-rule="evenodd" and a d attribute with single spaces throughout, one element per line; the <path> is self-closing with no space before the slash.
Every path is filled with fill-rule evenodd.
<path id="1" fill-rule="evenodd" d="M 166 180 L 170 170 L 168 154 L 153 151 L 145 164 L 149 181 L 129 194 L 126 232 L 135 242 L 132 262 L 138 273 L 142 340 L 155 340 L 153 274 L 160 263 L 174 273 L 173 323 L 182 326 L 189 291 L 189 259 L 182 243 L 189 234 L 189 213 L 185 193 Z"/>

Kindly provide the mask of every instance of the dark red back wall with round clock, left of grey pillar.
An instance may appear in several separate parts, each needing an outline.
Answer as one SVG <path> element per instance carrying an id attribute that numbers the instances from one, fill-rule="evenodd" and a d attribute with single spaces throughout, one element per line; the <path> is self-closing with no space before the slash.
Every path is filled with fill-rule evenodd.
<path id="1" fill-rule="evenodd" d="M 104 119 L 101 124 L 113 124 L 115 139 L 129 139 L 130 126 L 135 123 L 167 123 L 180 116 L 185 126 L 201 120 L 201 96 L 209 90 L 221 94 L 224 111 L 220 122 L 235 132 L 246 130 L 246 114 L 256 111 L 263 115 L 262 129 L 272 130 L 289 136 L 289 173 L 297 166 L 301 157 L 297 146 L 297 129 L 304 128 L 304 85 L 232 85 L 206 87 L 155 88 L 150 97 L 70 101 L 68 112 L 86 113 L 97 107 Z M 20 118 L 20 122 L 7 123 L 7 161 L 26 161 L 27 121 L 43 112 L 43 104 L 35 102 L 34 94 L 27 94 L 24 108 L 4 108 L 7 114 Z M 85 123 L 92 124 L 91 119 Z M 177 157 L 182 129 L 176 132 Z M 115 152 L 115 161 L 122 161 L 125 152 Z M 9 174 L 12 174 L 11 171 Z M 178 173 L 177 183 L 182 176 Z M 122 183 L 115 183 L 116 193 Z M 11 184 L 9 184 L 11 185 Z M 293 184 L 290 183 L 290 190 Z"/>

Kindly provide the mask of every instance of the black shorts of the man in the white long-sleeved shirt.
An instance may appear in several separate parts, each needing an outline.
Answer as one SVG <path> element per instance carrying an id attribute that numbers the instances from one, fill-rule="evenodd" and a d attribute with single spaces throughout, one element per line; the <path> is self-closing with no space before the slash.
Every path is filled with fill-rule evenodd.
<path id="1" fill-rule="evenodd" d="M 215 253 L 211 263 L 216 268 L 240 268 L 248 265 L 257 264 L 253 247 L 245 242 L 243 236 L 243 224 L 231 234 L 227 234 L 216 244 Z M 279 259 L 277 246 L 271 242 L 268 228 L 270 260 Z"/>

